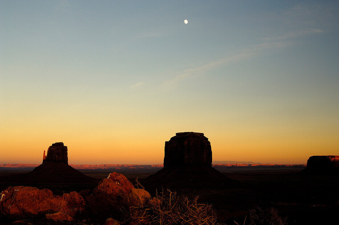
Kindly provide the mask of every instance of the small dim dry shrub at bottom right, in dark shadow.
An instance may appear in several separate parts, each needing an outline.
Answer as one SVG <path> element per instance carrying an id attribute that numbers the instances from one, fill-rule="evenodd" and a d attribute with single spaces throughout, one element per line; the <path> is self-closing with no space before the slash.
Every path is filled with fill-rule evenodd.
<path id="1" fill-rule="evenodd" d="M 286 225 L 286 218 L 279 216 L 277 209 L 251 209 L 250 224 L 265 224 L 265 225 Z"/>

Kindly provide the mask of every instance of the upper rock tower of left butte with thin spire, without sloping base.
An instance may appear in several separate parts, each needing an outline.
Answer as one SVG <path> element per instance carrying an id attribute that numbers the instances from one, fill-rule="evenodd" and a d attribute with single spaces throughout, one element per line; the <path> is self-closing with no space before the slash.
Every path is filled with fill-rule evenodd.
<path id="1" fill-rule="evenodd" d="M 64 146 L 62 142 L 56 142 L 49 146 L 47 150 L 47 155 L 43 156 L 43 162 L 63 162 L 68 164 L 68 156 L 67 156 L 67 146 Z"/>

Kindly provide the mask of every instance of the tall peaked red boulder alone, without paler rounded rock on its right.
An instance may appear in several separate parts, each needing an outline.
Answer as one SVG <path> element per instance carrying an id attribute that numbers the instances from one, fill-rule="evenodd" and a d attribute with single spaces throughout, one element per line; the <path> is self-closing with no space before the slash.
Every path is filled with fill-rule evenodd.
<path id="1" fill-rule="evenodd" d="M 120 173 L 111 173 L 98 184 L 92 195 L 86 197 L 88 206 L 94 213 L 120 213 L 120 208 L 128 206 L 128 194 L 133 184 Z"/>

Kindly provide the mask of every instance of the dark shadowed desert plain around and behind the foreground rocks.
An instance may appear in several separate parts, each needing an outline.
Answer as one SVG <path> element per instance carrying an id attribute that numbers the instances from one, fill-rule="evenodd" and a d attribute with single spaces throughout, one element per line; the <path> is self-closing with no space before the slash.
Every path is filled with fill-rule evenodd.
<path id="1" fill-rule="evenodd" d="M 326 224 L 331 222 L 339 212 L 339 177 L 310 176 L 299 172 L 305 167 L 272 167 L 231 166 L 217 168 L 221 173 L 233 179 L 232 185 L 219 187 L 169 187 L 171 191 L 183 194 L 189 198 L 199 196 L 199 201 L 212 204 L 217 210 L 218 222 L 224 224 L 243 224 L 250 209 L 275 208 L 280 216 L 287 218 L 288 224 Z M 118 172 L 135 184 L 136 178 L 142 180 L 160 170 L 154 168 L 121 168 L 79 170 L 83 174 L 98 180 L 106 178 L 109 173 Z M 20 181 L 5 181 L 8 175 L 27 173 L 30 169 L 0 170 L 0 189 L 8 186 L 25 185 Z M 92 186 L 91 186 L 92 185 Z M 47 187 L 54 194 L 79 191 L 77 184 L 67 186 L 36 185 L 38 188 Z M 93 188 L 88 184 L 88 188 Z M 165 187 L 167 188 L 167 187 Z M 81 189 L 81 188 L 80 188 Z M 159 187 L 145 187 L 155 196 L 160 193 Z M 160 188 L 161 189 L 161 188 Z M 236 223 L 235 223 L 236 222 Z"/>

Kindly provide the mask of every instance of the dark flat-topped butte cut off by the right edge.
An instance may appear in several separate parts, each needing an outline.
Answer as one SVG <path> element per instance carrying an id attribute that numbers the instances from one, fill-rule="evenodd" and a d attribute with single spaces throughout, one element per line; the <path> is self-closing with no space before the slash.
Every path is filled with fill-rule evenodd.
<path id="1" fill-rule="evenodd" d="M 339 174 L 339 156 L 311 156 L 307 160 L 304 174 Z"/>

